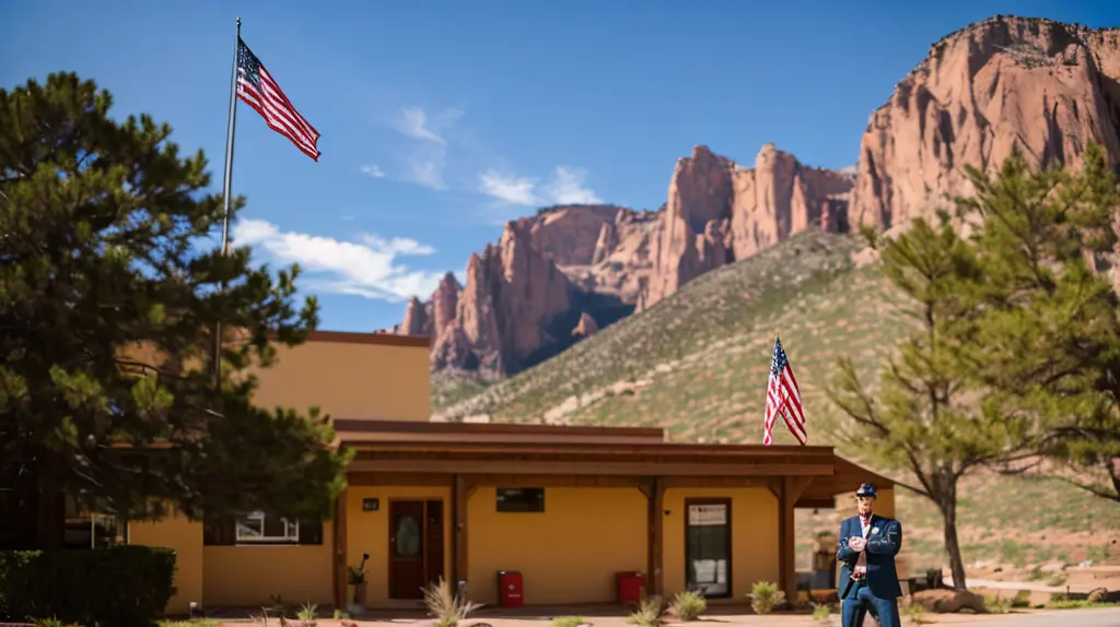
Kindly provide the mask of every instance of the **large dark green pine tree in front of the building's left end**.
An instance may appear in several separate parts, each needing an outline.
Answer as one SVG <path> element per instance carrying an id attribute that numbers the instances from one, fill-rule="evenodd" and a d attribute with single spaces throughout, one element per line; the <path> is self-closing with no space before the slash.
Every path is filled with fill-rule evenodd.
<path id="1" fill-rule="evenodd" d="M 130 516 L 325 515 L 346 462 L 332 429 L 254 407 L 246 371 L 306 339 L 315 300 L 297 267 L 216 251 L 203 153 L 111 105 L 73 74 L 0 91 L 0 479 L 44 547 L 62 493 Z M 236 336 L 220 389 L 218 323 Z"/>

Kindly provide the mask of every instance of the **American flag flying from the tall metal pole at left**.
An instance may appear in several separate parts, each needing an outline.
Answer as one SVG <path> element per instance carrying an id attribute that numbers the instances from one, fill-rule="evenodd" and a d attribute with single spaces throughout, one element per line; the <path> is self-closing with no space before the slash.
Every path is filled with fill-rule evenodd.
<path id="1" fill-rule="evenodd" d="M 237 97 L 261 114 L 264 122 L 277 133 L 291 140 L 304 154 L 318 161 L 319 132 L 308 124 L 296 111 L 283 89 L 264 69 L 261 59 L 237 38 Z"/>

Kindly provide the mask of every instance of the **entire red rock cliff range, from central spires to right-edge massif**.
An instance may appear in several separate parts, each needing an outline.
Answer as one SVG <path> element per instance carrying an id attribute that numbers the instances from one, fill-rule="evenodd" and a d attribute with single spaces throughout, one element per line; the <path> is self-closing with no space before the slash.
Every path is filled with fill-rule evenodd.
<path id="1" fill-rule="evenodd" d="M 511 222 L 472 257 L 465 287 L 449 275 L 395 331 L 431 334 L 435 370 L 511 374 L 806 229 L 905 228 L 972 192 L 965 164 L 990 171 L 1016 148 L 1038 167 L 1076 163 L 1089 141 L 1120 163 L 1118 79 L 1120 30 L 971 25 L 934 44 L 872 113 L 853 172 L 805 167 L 773 144 L 752 168 L 697 146 L 657 211 L 554 207 Z"/>

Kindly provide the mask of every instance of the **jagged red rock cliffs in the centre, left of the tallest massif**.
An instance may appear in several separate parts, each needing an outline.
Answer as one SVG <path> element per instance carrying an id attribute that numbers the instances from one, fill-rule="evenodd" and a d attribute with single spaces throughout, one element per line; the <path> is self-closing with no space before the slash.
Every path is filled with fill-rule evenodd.
<path id="1" fill-rule="evenodd" d="M 431 335 L 435 370 L 515 373 L 793 234 L 846 231 L 853 183 L 773 144 L 754 168 L 696 146 L 661 209 L 561 206 L 511 221 L 472 255 L 465 286 L 448 273 L 392 331 Z"/>

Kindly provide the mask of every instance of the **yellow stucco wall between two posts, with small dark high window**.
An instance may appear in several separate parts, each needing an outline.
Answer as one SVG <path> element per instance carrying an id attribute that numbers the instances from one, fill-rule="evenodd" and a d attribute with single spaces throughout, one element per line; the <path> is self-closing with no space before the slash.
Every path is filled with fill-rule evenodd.
<path id="1" fill-rule="evenodd" d="M 467 505 L 472 600 L 496 602 L 504 569 L 521 571 L 525 605 L 612 601 L 616 572 L 645 572 L 646 511 L 633 487 L 547 487 L 543 513 L 500 513 L 496 490 L 478 488 Z"/>

